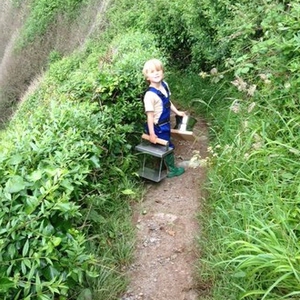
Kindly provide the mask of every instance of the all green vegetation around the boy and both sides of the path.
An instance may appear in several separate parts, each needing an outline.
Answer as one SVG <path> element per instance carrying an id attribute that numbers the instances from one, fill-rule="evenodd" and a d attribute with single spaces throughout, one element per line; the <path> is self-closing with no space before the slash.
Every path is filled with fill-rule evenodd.
<path id="1" fill-rule="evenodd" d="M 30 37 L 83 3 L 44 2 L 30 2 L 32 14 L 47 8 L 43 26 L 29 19 Z M 298 299 L 299 13 L 279 0 L 120 0 L 80 51 L 54 47 L 1 133 L 3 298 L 117 299 L 125 289 L 141 68 L 155 56 L 173 68 L 176 99 L 211 124 L 205 299 Z"/>

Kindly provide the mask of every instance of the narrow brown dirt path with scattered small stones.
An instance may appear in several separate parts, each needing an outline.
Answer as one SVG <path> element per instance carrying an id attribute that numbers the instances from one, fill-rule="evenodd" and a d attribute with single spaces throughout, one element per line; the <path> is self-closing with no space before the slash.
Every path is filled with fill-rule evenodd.
<path id="1" fill-rule="evenodd" d="M 207 155 L 205 122 L 198 119 L 193 131 L 198 137 L 195 142 L 174 140 L 177 165 L 185 166 L 186 172 L 160 183 L 145 181 L 147 192 L 134 207 L 137 243 L 128 270 L 131 283 L 121 300 L 198 299 L 196 214 L 201 209 L 205 168 L 195 158 Z M 196 162 L 192 167 L 191 159 Z"/>

